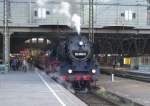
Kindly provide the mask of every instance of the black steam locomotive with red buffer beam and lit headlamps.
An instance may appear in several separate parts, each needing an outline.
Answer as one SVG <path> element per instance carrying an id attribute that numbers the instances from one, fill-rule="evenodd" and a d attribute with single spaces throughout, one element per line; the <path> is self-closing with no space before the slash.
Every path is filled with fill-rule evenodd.
<path id="1" fill-rule="evenodd" d="M 90 89 L 100 74 L 92 43 L 85 36 L 72 36 L 60 42 L 56 54 L 59 64 L 54 69 L 59 77 L 70 82 L 75 90 Z"/>

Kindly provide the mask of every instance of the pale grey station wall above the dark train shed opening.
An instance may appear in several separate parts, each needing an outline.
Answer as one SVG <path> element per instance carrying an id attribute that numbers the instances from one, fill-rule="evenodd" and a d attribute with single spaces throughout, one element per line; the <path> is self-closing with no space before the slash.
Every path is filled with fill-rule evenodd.
<path id="1" fill-rule="evenodd" d="M 46 0 L 44 6 L 38 0 L 7 0 L 10 26 L 67 25 L 66 17 L 55 12 L 59 0 Z M 44 1 L 43 1 L 44 2 Z M 94 27 L 132 26 L 148 28 L 150 7 L 146 0 L 94 0 Z M 75 0 L 70 6 L 77 7 L 71 12 L 81 16 L 82 27 L 88 27 L 89 0 Z M 0 25 L 3 25 L 4 3 L 0 1 Z M 70 7 L 71 9 L 71 7 Z"/>

